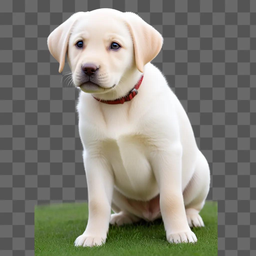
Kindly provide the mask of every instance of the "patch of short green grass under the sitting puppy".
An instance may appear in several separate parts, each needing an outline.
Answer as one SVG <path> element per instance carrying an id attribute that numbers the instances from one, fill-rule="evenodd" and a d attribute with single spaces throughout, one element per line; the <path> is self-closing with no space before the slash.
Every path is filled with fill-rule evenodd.
<path id="1" fill-rule="evenodd" d="M 35 255 L 217 255 L 217 203 L 206 202 L 200 215 L 205 227 L 194 228 L 196 244 L 170 244 L 162 220 L 110 226 L 103 246 L 74 247 L 88 219 L 88 205 L 81 203 L 35 207 Z"/>

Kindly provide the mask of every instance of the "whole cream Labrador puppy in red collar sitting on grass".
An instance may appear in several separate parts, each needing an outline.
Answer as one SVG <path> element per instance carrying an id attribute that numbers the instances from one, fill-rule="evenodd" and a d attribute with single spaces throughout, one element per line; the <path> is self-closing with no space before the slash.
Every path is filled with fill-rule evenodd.
<path id="1" fill-rule="evenodd" d="M 204 226 L 198 213 L 209 191 L 209 166 L 185 110 L 150 63 L 161 34 L 134 13 L 98 9 L 75 13 L 47 43 L 59 72 L 67 53 L 81 89 L 89 219 L 75 245 L 104 243 L 109 223 L 160 217 L 169 242 L 196 242 L 190 227 Z"/>

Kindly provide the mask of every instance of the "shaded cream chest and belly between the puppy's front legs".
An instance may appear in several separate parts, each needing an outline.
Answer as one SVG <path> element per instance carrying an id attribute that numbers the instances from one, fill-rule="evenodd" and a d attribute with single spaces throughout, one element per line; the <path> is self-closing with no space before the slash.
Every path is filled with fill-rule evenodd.
<path id="1" fill-rule="evenodd" d="M 145 142 L 137 136 L 120 136 L 105 141 L 103 148 L 113 167 L 115 186 L 127 197 L 146 200 L 157 184 Z"/>

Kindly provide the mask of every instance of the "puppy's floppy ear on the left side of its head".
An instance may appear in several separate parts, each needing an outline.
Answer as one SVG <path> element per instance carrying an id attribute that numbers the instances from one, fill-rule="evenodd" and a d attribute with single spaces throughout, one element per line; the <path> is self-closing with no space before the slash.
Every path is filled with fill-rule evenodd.
<path id="1" fill-rule="evenodd" d="M 84 14 L 84 12 L 74 13 L 65 22 L 55 28 L 47 38 L 47 45 L 51 55 L 60 63 L 59 73 L 62 72 L 65 65 L 65 55 L 68 49 L 72 27 L 81 14 Z"/>

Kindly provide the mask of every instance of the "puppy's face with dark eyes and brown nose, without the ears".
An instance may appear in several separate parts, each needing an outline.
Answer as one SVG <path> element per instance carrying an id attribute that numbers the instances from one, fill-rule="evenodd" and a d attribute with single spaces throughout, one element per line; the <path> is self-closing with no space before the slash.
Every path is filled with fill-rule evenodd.
<path id="1" fill-rule="evenodd" d="M 112 90 L 127 70 L 136 67 L 128 27 L 106 14 L 78 19 L 68 43 L 68 60 L 73 81 L 81 90 Z"/>

